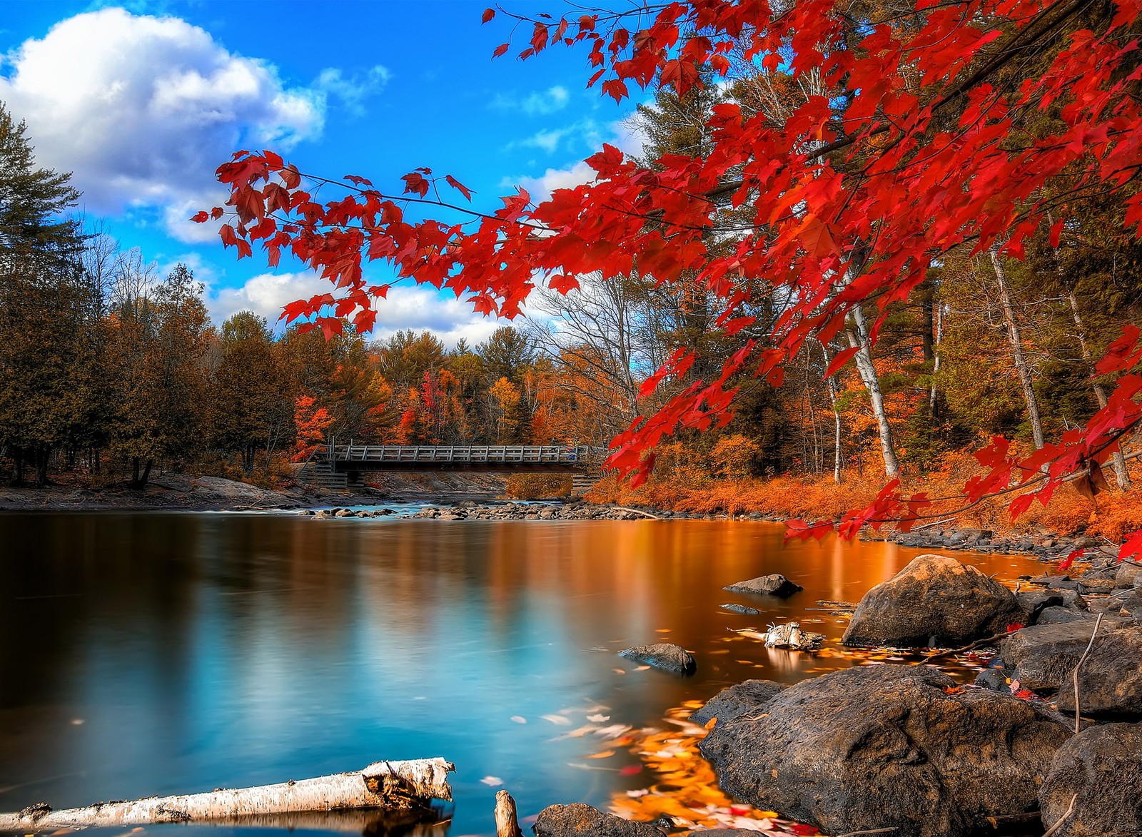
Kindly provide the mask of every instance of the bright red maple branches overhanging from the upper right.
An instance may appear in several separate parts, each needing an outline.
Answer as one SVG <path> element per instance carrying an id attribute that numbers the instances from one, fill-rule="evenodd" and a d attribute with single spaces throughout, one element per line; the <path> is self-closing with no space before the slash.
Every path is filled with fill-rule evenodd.
<path id="1" fill-rule="evenodd" d="M 1139 0 L 690 0 L 558 19 L 513 14 L 531 31 L 520 58 L 582 45 L 595 67 L 588 86 L 616 100 L 629 84 L 685 95 L 703 73 L 761 80 L 769 92 L 714 105 L 701 153 L 640 164 L 604 145 L 587 159 L 594 182 L 538 203 L 517 190 L 478 211 L 463 203 L 472 194 L 461 183 L 428 168 L 405 175 L 400 194 L 348 176 L 341 195 L 320 203 L 313 188 L 338 182 L 303 175 L 272 151 L 243 151 L 218 169 L 231 188 L 227 207 L 195 219 L 228 212 L 222 241 L 240 258 L 260 244 L 275 265 L 286 249 L 328 279 L 330 292 L 286 307 L 287 320 L 327 335 L 341 328 L 339 317 L 361 330 L 373 324 L 388 288 L 365 279 L 371 260 L 506 317 L 537 285 L 566 292 L 589 272 L 660 285 L 685 274 L 717 300 L 713 328 L 729 336 L 755 324 L 759 297 L 780 291 L 767 339 L 747 340 L 719 372 L 616 437 L 610 465 L 637 482 L 670 435 L 729 422 L 735 376 L 779 383 L 807 340 L 831 341 L 846 320 L 858 336 L 826 375 L 862 354 L 867 361 L 885 312 L 941 259 L 963 251 L 1020 258 L 1040 226 L 1056 247 L 1085 201 L 1108 196 L 1137 234 L 1140 10 Z M 485 22 L 496 14 L 489 9 Z M 494 55 L 510 49 L 504 43 Z M 452 219 L 415 217 L 425 207 Z M 709 247 L 715 227 L 734 233 L 734 246 Z M 876 313 L 866 317 L 863 306 Z M 1012 502 L 1018 514 L 1068 476 L 1096 480 L 1142 420 L 1140 360 L 1139 329 L 1128 327 L 1096 365 L 1119 376 L 1105 405 L 1029 457 L 994 440 L 978 454 L 988 472 L 965 486 L 967 501 L 1022 489 Z M 679 347 L 641 396 L 694 362 Z M 838 529 L 851 537 L 888 520 L 907 529 L 931 504 L 903 494 L 893 478 Z M 833 524 L 793 528 L 810 536 Z M 1142 533 L 1124 554 L 1139 547 Z"/>

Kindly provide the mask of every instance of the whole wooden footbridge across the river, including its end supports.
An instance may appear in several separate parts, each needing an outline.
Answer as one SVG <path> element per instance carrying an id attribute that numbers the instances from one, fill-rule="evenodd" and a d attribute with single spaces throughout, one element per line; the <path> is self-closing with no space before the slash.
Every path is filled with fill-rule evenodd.
<path id="1" fill-rule="evenodd" d="M 576 490 L 589 488 L 608 450 L 593 445 L 397 445 L 339 444 L 317 448 L 298 472 L 301 482 L 362 488 L 367 472 L 506 472 L 576 474 Z M 586 478 L 585 478 L 586 477 Z"/>

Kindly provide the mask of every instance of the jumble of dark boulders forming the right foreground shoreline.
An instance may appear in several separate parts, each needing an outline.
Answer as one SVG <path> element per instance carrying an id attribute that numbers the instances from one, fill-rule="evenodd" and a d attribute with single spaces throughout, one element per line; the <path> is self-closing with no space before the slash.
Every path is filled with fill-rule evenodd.
<path id="1" fill-rule="evenodd" d="M 806 823 L 795 834 L 1137 837 L 1142 568 L 1103 561 L 1077 579 L 1023 581 L 1029 589 L 1012 591 L 952 557 L 920 555 L 862 597 L 842 641 L 930 650 L 920 665 L 746 681 L 713 695 L 690 721 L 706 725 L 699 750 L 721 788 Z M 968 651 L 987 663 L 974 683 L 924 665 Z M 669 644 L 622 654 L 675 676 L 694 662 Z M 674 827 L 574 804 L 545 808 L 534 830 L 653 837 Z"/>

